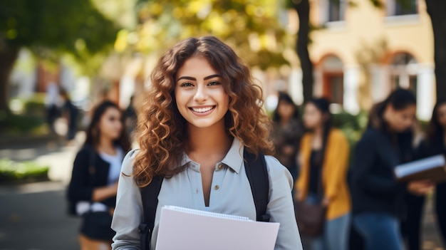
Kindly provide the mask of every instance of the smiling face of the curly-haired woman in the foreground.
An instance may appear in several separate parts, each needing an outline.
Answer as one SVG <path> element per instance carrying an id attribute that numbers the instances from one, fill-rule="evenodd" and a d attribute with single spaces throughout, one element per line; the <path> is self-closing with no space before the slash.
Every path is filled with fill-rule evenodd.
<path id="1" fill-rule="evenodd" d="M 177 108 L 189 125 L 211 127 L 224 125 L 229 109 L 229 95 L 222 78 L 201 55 L 187 59 L 177 72 L 175 99 Z"/>

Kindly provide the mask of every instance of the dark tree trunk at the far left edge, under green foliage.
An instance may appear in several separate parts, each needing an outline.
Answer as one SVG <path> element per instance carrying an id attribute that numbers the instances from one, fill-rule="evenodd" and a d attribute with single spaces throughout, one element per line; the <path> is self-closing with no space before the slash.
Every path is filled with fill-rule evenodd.
<path id="1" fill-rule="evenodd" d="M 17 56 L 19 56 L 18 47 L 6 46 L 4 50 L 0 50 L 0 111 L 9 112 L 9 75 Z"/>

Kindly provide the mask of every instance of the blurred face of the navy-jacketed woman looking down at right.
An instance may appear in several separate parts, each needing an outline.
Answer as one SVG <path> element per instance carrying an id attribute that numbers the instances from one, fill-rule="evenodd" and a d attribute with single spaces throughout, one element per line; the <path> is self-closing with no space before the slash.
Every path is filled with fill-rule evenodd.
<path id="1" fill-rule="evenodd" d="M 413 125 L 416 111 L 415 105 L 409 105 L 402 110 L 395 110 L 392 105 L 388 105 L 386 108 L 385 120 L 391 130 L 395 132 L 403 132 Z"/>

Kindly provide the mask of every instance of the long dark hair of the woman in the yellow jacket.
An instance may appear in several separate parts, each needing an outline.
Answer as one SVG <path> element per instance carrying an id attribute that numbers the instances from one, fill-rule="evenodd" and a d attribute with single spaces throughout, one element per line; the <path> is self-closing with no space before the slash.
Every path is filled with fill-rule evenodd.
<path id="1" fill-rule="evenodd" d="M 328 135 L 330 135 L 331 129 L 333 128 L 333 115 L 330 112 L 330 102 L 326 98 L 313 98 L 309 100 L 306 104 L 313 104 L 322 113 L 326 120 L 323 122 L 323 133 L 322 133 L 322 148 L 316 157 L 316 163 L 323 164 L 323 156 L 325 155 Z"/>

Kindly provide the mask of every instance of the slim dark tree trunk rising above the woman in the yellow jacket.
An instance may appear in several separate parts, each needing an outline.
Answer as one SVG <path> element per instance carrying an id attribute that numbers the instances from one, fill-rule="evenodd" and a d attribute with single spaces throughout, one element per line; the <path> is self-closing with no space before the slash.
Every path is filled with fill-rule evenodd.
<path id="1" fill-rule="evenodd" d="M 308 53 L 308 33 L 310 32 L 310 4 L 308 0 L 301 0 L 294 4 L 299 16 L 299 31 L 297 33 L 296 51 L 301 61 L 302 87 L 304 102 L 313 98 L 313 63 Z"/>

